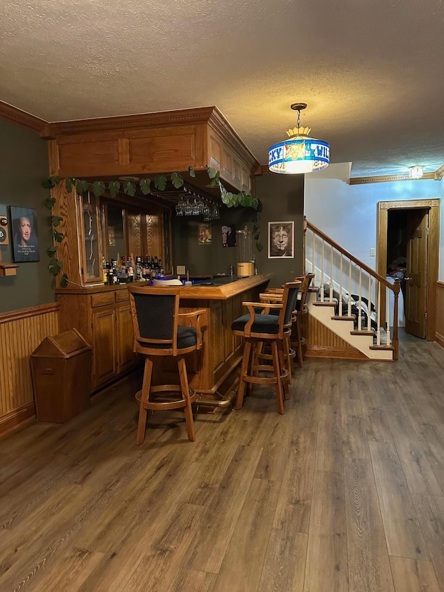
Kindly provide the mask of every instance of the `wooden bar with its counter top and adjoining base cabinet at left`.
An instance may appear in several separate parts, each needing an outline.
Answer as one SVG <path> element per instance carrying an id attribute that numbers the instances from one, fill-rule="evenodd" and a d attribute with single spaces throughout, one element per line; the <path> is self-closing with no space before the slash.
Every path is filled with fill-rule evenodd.
<path id="1" fill-rule="evenodd" d="M 237 384 L 237 366 L 242 342 L 231 332 L 231 323 L 246 313 L 243 301 L 257 301 L 270 276 L 248 278 L 215 276 L 200 284 L 181 288 L 180 312 L 205 310 L 204 346 L 187 361 L 190 387 L 203 399 L 224 406 L 227 394 Z M 144 282 L 137 282 L 144 285 Z M 152 289 L 146 286 L 146 289 Z M 127 285 L 88 286 L 57 290 L 60 330 L 76 328 L 92 346 L 92 391 L 119 378 L 137 364 L 133 353 L 133 325 Z M 155 382 L 171 382 L 175 371 L 171 360 L 155 368 Z"/>

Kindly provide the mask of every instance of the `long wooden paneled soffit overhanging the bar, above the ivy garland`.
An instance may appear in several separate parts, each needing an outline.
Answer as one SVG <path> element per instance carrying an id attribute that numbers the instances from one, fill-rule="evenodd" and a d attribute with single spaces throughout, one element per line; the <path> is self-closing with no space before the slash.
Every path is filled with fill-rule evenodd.
<path id="1" fill-rule="evenodd" d="M 214 167 L 229 189 L 253 192 L 259 168 L 216 107 L 65 121 L 46 126 L 42 137 L 49 139 L 51 176 L 140 177 Z M 207 185 L 208 178 L 194 183 Z"/>

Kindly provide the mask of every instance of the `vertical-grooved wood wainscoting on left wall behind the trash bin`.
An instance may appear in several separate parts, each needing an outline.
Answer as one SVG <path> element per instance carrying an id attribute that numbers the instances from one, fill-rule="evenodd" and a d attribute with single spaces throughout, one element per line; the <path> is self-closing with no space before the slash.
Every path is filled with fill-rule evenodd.
<path id="1" fill-rule="evenodd" d="M 57 335 L 58 303 L 0 314 L 0 435 L 35 416 L 30 356 Z"/>

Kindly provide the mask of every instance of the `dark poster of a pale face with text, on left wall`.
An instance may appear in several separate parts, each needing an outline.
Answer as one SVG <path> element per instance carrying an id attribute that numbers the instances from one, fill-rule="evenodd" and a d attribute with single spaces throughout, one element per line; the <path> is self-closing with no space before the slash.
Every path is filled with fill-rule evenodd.
<path id="1" fill-rule="evenodd" d="M 39 261 L 37 212 L 10 205 L 12 257 L 15 263 Z"/>

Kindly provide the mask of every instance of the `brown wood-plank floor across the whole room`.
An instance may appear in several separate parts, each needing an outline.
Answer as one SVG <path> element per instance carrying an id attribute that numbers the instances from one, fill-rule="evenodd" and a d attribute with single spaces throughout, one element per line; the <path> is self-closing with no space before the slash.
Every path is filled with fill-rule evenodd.
<path id="1" fill-rule="evenodd" d="M 285 414 L 148 418 L 141 375 L 0 441 L 0 591 L 444 592 L 444 350 L 306 358 Z"/>

